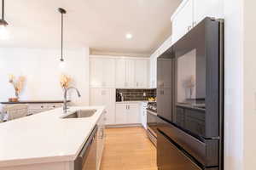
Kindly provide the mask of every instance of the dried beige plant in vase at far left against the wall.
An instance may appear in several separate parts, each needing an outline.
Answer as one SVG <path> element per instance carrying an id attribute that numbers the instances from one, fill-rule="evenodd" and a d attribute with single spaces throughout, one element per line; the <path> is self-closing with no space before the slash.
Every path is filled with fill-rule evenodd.
<path id="1" fill-rule="evenodd" d="M 15 96 L 16 98 L 10 98 L 10 102 L 18 102 L 20 98 L 20 93 L 22 92 L 24 88 L 24 83 L 25 83 L 25 77 L 18 77 L 17 79 L 15 78 L 14 75 L 9 76 L 9 83 L 13 85 L 15 88 Z"/>

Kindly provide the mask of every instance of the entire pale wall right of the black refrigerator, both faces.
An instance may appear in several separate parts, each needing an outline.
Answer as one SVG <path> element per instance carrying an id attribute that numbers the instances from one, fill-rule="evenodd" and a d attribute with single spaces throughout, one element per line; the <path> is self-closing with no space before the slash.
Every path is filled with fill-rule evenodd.
<path id="1" fill-rule="evenodd" d="M 256 167 L 255 6 L 224 0 L 225 170 Z"/>

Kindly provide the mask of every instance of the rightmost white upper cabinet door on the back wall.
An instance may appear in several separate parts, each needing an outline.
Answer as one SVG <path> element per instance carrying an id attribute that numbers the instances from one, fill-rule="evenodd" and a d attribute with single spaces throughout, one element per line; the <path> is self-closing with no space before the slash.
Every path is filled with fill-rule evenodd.
<path id="1" fill-rule="evenodd" d="M 135 61 L 136 88 L 148 88 L 148 71 L 148 60 L 137 59 Z"/>

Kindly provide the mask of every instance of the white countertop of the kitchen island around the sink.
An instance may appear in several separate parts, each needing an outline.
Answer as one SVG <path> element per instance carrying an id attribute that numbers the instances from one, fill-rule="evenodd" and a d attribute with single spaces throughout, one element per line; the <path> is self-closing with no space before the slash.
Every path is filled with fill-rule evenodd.
<path id="1" fill-rule="evenodd" d="M 0 123 L 0 167 L 73 161 L 105 107 L 71 107 L 67 115 L 81 109 L 95 109 L 96 113 L 85 118 L 62 119 L 62 108 L 58 108 Z"/>

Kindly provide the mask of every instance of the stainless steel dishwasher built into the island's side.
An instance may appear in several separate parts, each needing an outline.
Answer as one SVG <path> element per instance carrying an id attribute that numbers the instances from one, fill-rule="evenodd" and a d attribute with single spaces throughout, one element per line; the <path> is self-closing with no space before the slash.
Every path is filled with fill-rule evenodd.
<path id="1" fill-rule="evenodd" d="M 74 161 L 74 170 L 96 170 L 97 126 L 90 133 L 79 156 Z"/>

